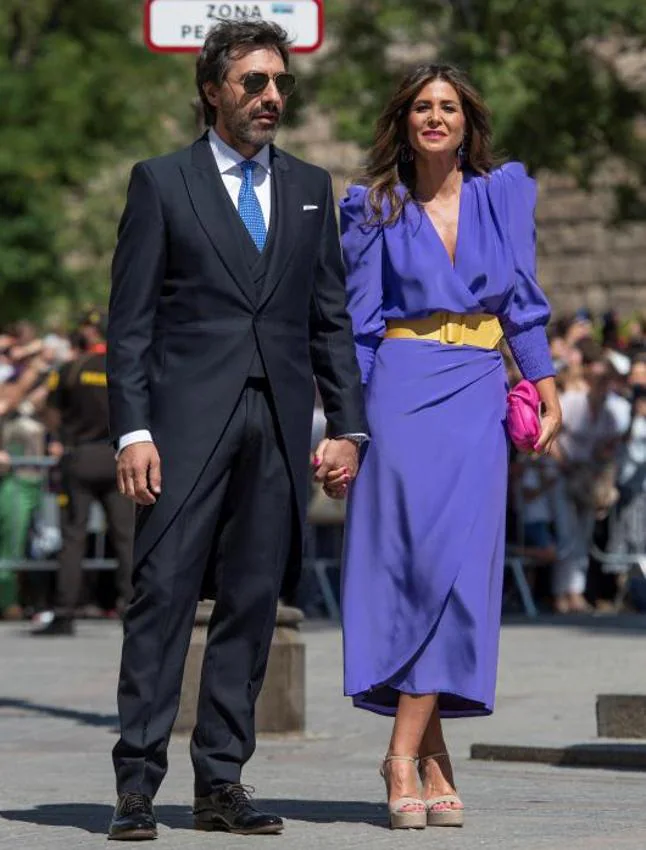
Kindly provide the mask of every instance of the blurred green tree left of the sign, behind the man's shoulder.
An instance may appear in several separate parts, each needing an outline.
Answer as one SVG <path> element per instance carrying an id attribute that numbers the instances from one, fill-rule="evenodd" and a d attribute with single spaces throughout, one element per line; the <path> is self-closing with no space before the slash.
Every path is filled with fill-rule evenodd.
<path id="1" fill-rule="evenodd" d="M 140 30 L 132 0 L 0 7 L 2 321 L 105 296 L 118 164 L 167 146 L 176 118 L 191 129 L 191 63 L 151 54 Z"/>

